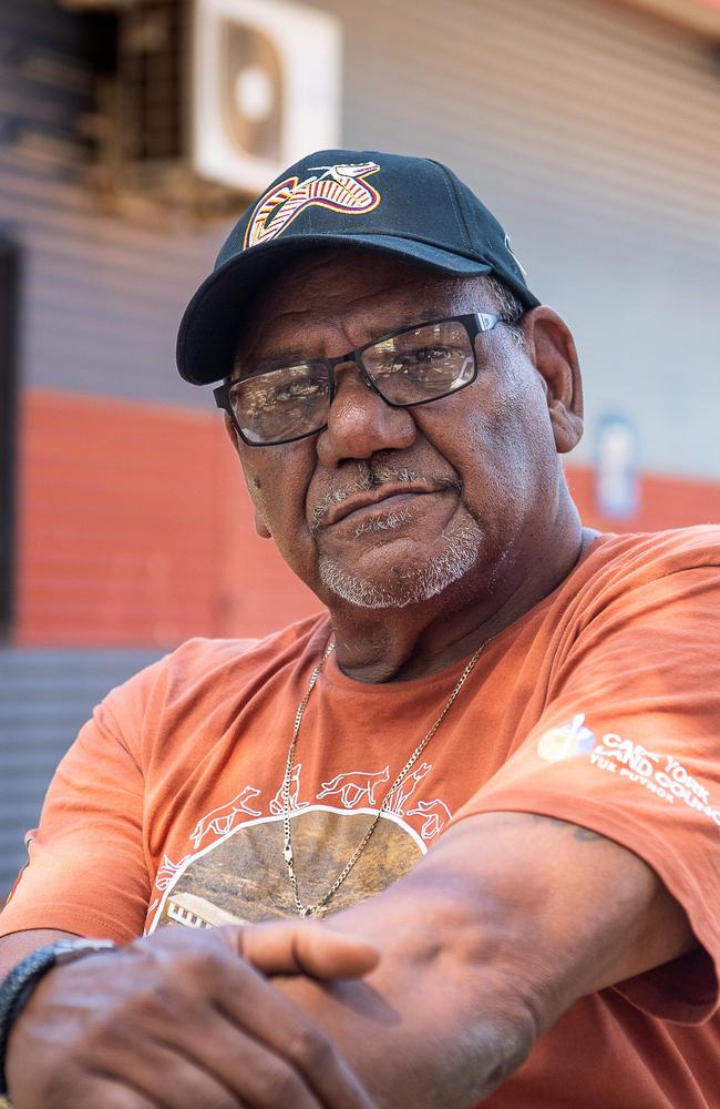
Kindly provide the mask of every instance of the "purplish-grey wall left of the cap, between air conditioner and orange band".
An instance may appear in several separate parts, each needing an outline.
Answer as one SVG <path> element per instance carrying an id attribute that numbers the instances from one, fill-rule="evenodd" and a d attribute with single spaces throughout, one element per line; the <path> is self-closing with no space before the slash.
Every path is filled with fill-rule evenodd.
<path id="1" fill-rule="evenodd" d="M 27 257 L 25 385 L 209 407 L 179 379 L 174 344 L 224 228 L 172 232 L 92 204 L 72 183 L 28 183 L 0 163 L 0 226 Z"/>

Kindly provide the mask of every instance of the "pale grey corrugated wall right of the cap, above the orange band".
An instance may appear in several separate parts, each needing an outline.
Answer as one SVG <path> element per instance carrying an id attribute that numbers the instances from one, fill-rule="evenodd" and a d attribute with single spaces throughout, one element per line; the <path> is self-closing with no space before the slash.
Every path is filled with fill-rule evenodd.
<path id="1" fill-rule="evenodd" d="M 331 0 L 351 145 L 431 153 L 501 216 L 570 323 L 599 418 L 647 469 L 720 477 L 720 65 L 714 43 L 576 0 Z"/>

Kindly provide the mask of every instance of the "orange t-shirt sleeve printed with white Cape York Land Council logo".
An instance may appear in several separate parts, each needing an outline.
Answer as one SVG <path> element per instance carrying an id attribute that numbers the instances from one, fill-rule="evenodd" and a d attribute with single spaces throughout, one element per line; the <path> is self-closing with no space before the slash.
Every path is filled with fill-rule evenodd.
<path id="1" fill-rule="evenodd" d="M 676 568 L 590 608 L 536 726 L 455 818 L 533 812 L 635 852 L 701 949 L 614 988 L 652 1016 L 701 1022 L 719 1004 L 719 568 Z"/>

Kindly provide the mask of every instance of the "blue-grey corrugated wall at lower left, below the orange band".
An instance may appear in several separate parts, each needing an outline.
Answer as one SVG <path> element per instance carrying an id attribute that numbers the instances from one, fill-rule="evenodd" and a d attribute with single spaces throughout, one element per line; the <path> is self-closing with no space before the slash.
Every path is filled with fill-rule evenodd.
<path id="1" fill-rule="evenodd" d="M 95 705 L 157 651 L 0 649 L 0 904 L 58 762 Z"/>

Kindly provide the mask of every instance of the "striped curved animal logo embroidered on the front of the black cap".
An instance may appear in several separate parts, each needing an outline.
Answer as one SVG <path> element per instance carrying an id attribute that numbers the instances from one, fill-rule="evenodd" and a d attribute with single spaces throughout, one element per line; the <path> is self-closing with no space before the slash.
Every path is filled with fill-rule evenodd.
<path id="1" fill-rule="evenodd" d="M 244 248 L 277 238 L 312 205 L 346 215 L 362 215 L 380 203 L 380 193 L 366 181 L 380 169 L 377 162 L 308 169 L 313 171 L 312 176 L 305 181 L 286 177 L 260 197 L 245 232 Z"/>

